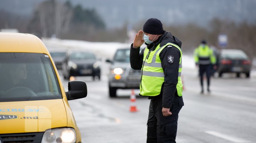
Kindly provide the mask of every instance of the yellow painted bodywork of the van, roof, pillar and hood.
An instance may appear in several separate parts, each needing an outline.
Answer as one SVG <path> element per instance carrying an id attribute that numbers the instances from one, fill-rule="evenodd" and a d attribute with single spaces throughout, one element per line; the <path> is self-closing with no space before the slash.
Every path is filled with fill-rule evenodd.
<path id="1" fill-rule="evenodd" d="M 43 42 L 32 34 L 0 32 L 0 52 L 47 54 L 54 67 L 63 96 L 63 99 L 54 100 L 0 102 L 1 117 L 15 118 L 16 116 L 14 115 L 17 115 L 17 119 L 0 119 L 0 134 L 43 132 L 50 128 L 72 127 L 76 131 L 76 142 L 81 142 L 80 131 L 68 104 L 59 73 Z M 32 110 L 34 111 L 32 112 Z M 38 112 L 36 112 L 37 110 Z M 30 119 L 30 117 L 32 117 L 32 119 Z"/>

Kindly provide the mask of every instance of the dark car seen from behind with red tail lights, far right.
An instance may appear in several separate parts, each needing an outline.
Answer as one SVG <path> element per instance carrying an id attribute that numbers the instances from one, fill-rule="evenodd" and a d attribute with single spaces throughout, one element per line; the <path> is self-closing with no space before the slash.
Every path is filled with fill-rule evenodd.
<path id="1" fill-rule="evenodd" d="M 236 73 L 236 77 L 245 73 L 247 78 L 250 77 L 251 61 L 244 51 L 223 49 L 220 50 L 218 58 L 217 71 L 220 77 L 223 73 Z"/>

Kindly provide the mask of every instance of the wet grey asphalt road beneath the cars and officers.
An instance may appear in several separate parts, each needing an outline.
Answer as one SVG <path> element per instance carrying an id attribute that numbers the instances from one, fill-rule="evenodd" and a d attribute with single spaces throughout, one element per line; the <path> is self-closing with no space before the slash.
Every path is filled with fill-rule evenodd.
<path id="1" fill-rule="evenodd" d="M 69 101 L 82 142 L 145 143 L 150 101 L 137 96 L 139 111 L 131 113 L 131 90 L 118 90 L 118 98 L 109 98 L 107 66 L 103 68 L 100 81 L 77 77 L 86 82 L 88 95 Z M 183 68 L 182 79 L 185 106 L 179 114 L 177 143 L 256 143 L 256 77 L 212 78 L 212 91 L 205 94 L 199 93 L 197 70 Z M 68 81 L 62 82 L 67 91 Z"/>

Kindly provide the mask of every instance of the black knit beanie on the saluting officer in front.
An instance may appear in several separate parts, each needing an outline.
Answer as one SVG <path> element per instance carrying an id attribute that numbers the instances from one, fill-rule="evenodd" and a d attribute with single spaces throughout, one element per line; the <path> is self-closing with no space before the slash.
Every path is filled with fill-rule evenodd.
<path id="1" fill-rule="evenodd" d="M 143 32 L 154 35 L 164 34 L 162 23 L 156 18 L 150 18 L 145 22 Z"/>

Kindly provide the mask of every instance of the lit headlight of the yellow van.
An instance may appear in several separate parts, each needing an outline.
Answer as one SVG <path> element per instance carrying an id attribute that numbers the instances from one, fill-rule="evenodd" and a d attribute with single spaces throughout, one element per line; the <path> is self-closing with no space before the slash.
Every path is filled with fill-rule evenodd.
<path id="1" fill-rule="evenodd" d="M 75 143 L 74 128 L 53 128 L 44 132 L 41 143 Z"/>

